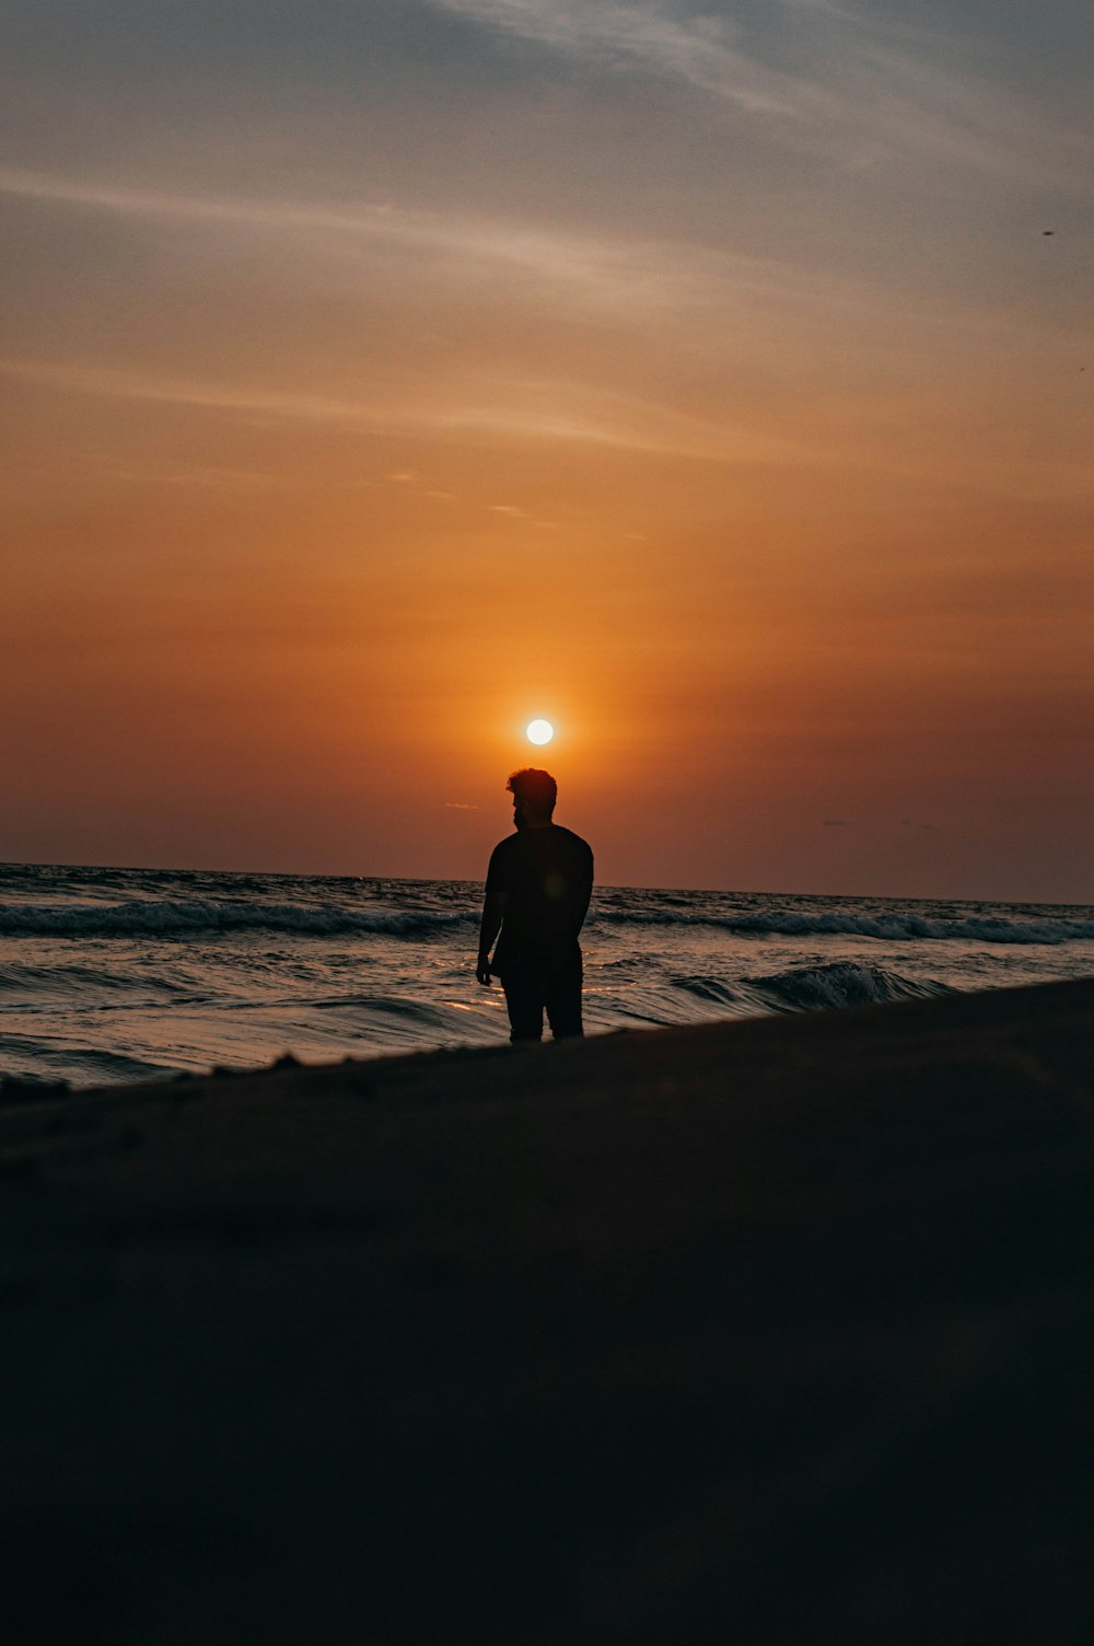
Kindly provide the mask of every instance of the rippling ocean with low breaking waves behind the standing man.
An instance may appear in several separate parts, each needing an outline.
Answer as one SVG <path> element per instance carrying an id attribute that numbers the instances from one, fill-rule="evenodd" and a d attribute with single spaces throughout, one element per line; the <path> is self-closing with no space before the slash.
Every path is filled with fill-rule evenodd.
<path id="1" fill-rule="evenodd" d="M 482 886 L 0 866 L 0 1075 L 76 1086 L 487 1045 Z M 1094 909 L 596 890 L 591 1034 L 1094 976 Z"/>

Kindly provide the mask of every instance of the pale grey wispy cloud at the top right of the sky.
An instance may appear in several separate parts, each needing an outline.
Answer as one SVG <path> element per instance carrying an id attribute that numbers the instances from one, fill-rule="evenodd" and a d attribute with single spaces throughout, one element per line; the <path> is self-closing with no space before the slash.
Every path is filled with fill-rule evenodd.
<path id="1" fill-rule="evenodd" d="M 979 171 L 1073 176 L 1076 133 L 1023 115 L 992 84 L 977 41 L 956 26 L 928 31 L 832 0 L 768 0 L 760 49 L 725 16 L 683 12 L 671 0 L 431 3 L 605 72 L 658 76 L 765 117 L 768 135 L 795 148 L 819 143 L 849 170 L 864 142 L 875 142 L 890 160 L 910 146 Z M 776 66 L 786 41 L 808 72 Z"/>

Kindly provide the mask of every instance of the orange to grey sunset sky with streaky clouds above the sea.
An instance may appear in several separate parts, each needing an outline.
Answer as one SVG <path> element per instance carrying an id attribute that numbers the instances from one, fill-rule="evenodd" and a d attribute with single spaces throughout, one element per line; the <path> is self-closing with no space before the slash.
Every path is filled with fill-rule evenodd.
<path id="1" fill-rule="evenodd" d="M 5 0 L 0 859 L 1094 902 L 1087 0 Z M 546 716 L 553 744 L 523 726 Z"/>

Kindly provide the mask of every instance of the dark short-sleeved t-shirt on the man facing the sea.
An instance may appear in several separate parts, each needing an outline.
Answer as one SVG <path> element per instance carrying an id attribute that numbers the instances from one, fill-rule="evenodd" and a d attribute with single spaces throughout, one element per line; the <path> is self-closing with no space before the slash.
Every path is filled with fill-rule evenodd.
<path id="1" fill-rule="evenodd" d="M 487 895 L 505 892 L 507 900 L 490 969 L 503 976 L 577 958 L 591 886 L 592 851 L 572 830 L 551 823 L 500 841 L 490 856 Z"/>

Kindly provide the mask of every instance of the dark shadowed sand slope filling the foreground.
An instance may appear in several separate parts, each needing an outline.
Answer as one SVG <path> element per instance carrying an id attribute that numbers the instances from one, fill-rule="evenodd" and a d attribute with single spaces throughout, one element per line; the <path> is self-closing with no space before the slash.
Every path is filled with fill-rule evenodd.
<path id="1" fill-rule="evenodd" d="M 0 1108 L 0 1638 L 1094 1639 L 1094 983 Z"/>

